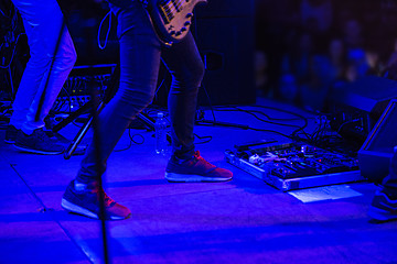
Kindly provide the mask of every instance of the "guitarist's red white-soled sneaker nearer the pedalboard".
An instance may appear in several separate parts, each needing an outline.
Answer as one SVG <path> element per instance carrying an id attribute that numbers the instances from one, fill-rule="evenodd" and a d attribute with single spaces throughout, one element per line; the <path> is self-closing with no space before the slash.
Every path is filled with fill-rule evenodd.
<path id="1" fill-rule="evenodd" d="M 165 169 L 165 179 L 173 183 L 218 183 L 233 178 L 233 173 L 205 161 L 196 151 L 191 160 L 171 157 Z"/>

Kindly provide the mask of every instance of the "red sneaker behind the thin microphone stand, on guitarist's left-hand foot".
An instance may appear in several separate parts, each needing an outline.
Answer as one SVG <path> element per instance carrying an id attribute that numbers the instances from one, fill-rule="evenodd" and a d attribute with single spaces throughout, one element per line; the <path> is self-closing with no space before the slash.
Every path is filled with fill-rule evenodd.
<path id="1" fill-rule="evenodd" d="M 104 195 L 105 219 L 122 220 L 131 216 L 131 211 L 112 200 L 104 190 L 99 191 L 97 184 L 77 184 L 72 180 L 62 197 L 61 206 L 74 213 L 94 219 L 100 219 L 100 193 Z"/>

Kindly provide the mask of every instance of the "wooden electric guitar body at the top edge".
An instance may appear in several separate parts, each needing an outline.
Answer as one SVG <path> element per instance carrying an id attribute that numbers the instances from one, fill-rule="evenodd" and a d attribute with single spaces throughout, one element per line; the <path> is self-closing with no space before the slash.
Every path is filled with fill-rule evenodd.
<path id="1" fill-rule="evenodd" d="M 194 8 L 206 2 L 207 0 L 147 0 L 154 30 L 169 44 L 181 42 L 187 35 Z"/>

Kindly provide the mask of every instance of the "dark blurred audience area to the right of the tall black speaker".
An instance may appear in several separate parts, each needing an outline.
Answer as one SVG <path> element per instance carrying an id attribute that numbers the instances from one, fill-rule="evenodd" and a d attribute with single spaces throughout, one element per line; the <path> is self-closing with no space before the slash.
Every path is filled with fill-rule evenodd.
<path id="1" fill-rule="evenodd" d="M 257 0 L 255 18 L 261 96 L 324 111 L 346 84 L 395 79 L 397 1 Z"/>

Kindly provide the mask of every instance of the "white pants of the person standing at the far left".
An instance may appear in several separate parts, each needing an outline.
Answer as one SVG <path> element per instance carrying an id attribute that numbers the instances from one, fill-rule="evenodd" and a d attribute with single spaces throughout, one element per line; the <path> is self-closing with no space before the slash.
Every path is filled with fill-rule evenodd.
<path id="1" fill-rule="evenodd" d="M 76 51 L 56 0 L 12 0 L 23 19 L 30 59 L 12 105 L 10 124 L 26 134 L 44 127 L 76 62 Z"/>

